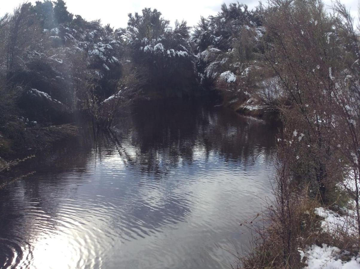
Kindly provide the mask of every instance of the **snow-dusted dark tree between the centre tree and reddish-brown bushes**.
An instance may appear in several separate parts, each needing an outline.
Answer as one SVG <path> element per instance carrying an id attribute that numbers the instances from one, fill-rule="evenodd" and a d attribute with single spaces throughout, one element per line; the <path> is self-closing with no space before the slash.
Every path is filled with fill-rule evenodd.
<path id="1" fill-rule="evenodd" d="M 267 77 L 262 66 L 263 20 L 262 5 L 249 11 L 243 4 L 223 4 L 221 12 L 201 18 L 195 27 L 192 41 L 202 86 L 215 87 L 225 105 L 251 99 L 257 82 Z"/>

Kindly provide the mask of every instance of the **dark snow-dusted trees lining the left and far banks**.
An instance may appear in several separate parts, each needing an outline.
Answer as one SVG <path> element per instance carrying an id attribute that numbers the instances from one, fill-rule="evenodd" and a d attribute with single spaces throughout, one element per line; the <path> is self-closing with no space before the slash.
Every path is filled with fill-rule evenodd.
<path id="1" fill-rule="evenodd" d="M 71 126 L 49 126 L 79 114 L 107 129 L 138 98 L 243 96 L 249 74 L 234 73 L 262 53 L 262 13 L 224 4 L 192 32 L 185 21 L 171 28 L 156 9 L 129 14 L 128 26 L 114 29 L 69 13 L 62 0 L 20 5 L 0 20 L 0 152 L 66 136 Z"/>

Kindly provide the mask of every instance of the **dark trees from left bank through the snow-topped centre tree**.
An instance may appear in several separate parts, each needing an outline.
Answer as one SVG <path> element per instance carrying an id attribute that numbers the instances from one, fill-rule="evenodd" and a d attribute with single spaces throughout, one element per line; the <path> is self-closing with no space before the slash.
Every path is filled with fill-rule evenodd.
<path id="1" fill-rule="evenodd" d="M 139 96 L 140 85 L 150 97 L 191 96 L 198 88 L 189 27 L 176 22 L 171 29 L 157 10 L 130 15 L 126 29 L 114 30 L 74 17 L 62 0 L 37 1 L 1 18 L 0 39 L 1 91 L 9 96 L 1 106 L 43 126 L 71 122 L 84 111 L 104 127 L 103 117 L 123 106 L 104 108 L 104 100 L 117 97 L 134 74 L 142 82 L 123 87 L 123 104 Z"/>

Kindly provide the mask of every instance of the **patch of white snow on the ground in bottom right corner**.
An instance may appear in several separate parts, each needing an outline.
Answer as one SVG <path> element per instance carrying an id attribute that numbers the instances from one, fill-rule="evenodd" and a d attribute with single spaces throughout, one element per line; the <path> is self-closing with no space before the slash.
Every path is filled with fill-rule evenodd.
<path id="1" fill-rule="evenodd" d="M 350 261 L 342 261 L 341 250 L 323 244 L 312 245 L 305 251 L 299 250 L 301 261 L 306 258 L 304 269 L 360 269 L 360 258 L 352 257 Z M 345 253 L 343 253 L 345 254 Z"/>

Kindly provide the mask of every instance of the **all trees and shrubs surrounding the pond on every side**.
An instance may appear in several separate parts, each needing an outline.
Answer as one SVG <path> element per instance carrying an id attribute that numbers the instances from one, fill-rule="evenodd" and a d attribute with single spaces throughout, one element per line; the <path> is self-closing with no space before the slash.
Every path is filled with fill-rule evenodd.
<path id="1" fill-rule="evenodd" d="M 76 117 L 108 129 L 140 98 L 215 95 L 283 123 L 275 199 L 246 223 L 257 239 L 238 266 L 310 268 L 323 244 L 345 261 L 360 249 L 359 65 L 359 31 L 339 2 L 224 4 L 193 29 L 156 9 L 114 29 L 62 0 L 26 3 L 0 19 L 0 156 L 76 134 Z M 0 173 L 17 163 L 0 158 Z"/>

